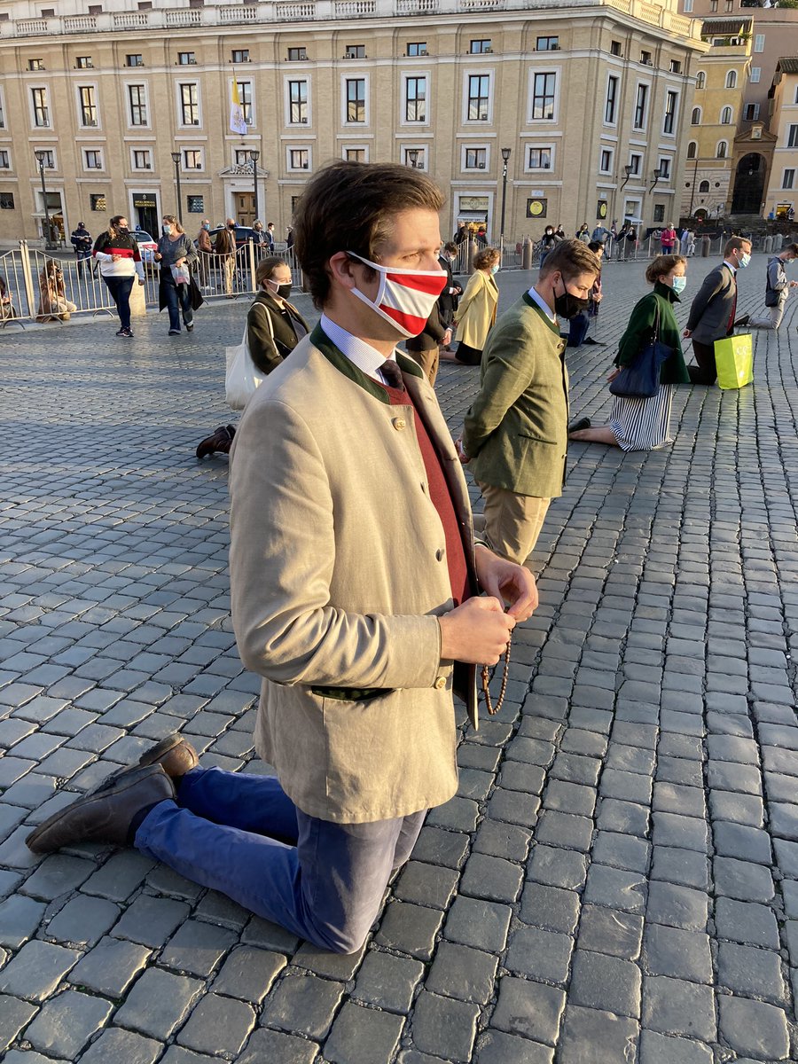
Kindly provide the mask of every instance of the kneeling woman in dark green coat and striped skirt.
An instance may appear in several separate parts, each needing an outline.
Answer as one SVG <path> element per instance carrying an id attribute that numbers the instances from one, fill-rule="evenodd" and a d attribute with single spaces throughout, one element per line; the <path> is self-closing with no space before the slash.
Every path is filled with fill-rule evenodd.
<path id="1" fill-rule="evenodd" d="M 684 290 L 686 284 L 686 268 L 687 260 L 682 255 L 658 255 L 648 267 L 646 280 L 654 286 L 653 292 L 644 296 L 632 311 L 615 358 L 618 368 L 609 378 L 613 381 L 621 367 L 633 362 L 639 351 L 651 343 L 659 311 L 659 338 L 671 349 L 672 354 L 662 364 L 656 394 L 648 399 L 613 396 L 610 423 L 594 429 L 588 418 L 582 418 L 568 433 L 569 439 L 610 444 L 624 451 L 651 451 L 672 443 L 668 432 L 672 385 L 689 383 L 674 314 L 674 303 L 679 302 L 679 293 Z"/>

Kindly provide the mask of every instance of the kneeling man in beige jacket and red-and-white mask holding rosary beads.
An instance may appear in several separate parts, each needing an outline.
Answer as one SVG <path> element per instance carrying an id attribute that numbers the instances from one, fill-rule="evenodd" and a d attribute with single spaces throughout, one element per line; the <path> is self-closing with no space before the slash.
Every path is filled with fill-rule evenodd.
<path id="1" fill-rule="evenodd" d="M 321 320 L 248 402 L 230 467 L 233 628 L 277 775 L 205 768 L 169 736 L 36 828 L 34 852 L 130 841 L 317 948 L 366 941 L 458 788 L 455 663 L 473 714 L 476 665 L 537 601 L 528 569 L 473 545 L 435 393 L 396 353 L 445 281 L 444 202 L 416 169 L 338 162 L 296 207 Z"/>

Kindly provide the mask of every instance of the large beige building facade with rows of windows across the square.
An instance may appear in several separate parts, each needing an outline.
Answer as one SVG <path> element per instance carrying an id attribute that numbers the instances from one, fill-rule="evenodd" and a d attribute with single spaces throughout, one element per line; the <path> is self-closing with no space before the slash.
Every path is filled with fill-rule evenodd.
<path id="1" fill-rule="evenodd" d="M 677 0 L 0 5 L 0 243 L 124 213 L 283 235 L 331 159 L 417 165 L 498 238 L 678 214 L 699 26 Z M 36 17 L 33 17 L 33 15 Z M 244 132 L 230 128 L 232 86 Z M 502 149 L 510 149 L 506 180 Z M 177 164 L 172 153 L 178 153 Z M 177 172 L 176 172 L 177 171 Z M 622 187 L 621 187 L 622 186 Z"/>

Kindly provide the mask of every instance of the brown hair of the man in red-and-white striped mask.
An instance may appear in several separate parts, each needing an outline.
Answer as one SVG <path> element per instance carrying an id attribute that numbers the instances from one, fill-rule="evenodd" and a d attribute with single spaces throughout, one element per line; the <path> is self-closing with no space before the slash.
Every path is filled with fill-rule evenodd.
<path id="1" fill-rule="evenodd" d="M 313 303 L 330 296 L 330 259 L 352 251 L 378 262 L 376 248 L 389 236 L 402 211 L 438 212 L 444 195 L 419 170 L 398 163 L 331 163 L 307 184 L 294 215 L 297 259 Z"/>

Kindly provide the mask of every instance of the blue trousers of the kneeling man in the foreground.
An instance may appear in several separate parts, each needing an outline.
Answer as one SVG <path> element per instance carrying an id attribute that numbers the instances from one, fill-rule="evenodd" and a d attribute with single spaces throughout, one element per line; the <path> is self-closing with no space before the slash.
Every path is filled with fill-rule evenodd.
<path id="1" fill-rule="evenodd" d="M 426 814 L 332 824 L 297 809 L 275 777 L 193 768 L 177 801 L 144 818 L 135 847 L 300 938 L 351 953 Z"/>

